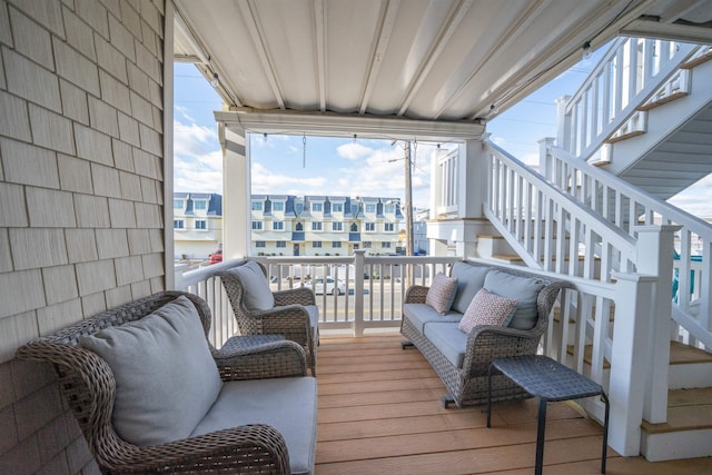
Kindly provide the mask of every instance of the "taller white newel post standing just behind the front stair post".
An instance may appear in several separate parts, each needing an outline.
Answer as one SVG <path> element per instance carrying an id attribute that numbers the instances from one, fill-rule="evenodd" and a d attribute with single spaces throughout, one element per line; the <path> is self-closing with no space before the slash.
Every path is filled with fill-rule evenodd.
<path id="1" fill-rule="evenodd" d="M 647 329 L 650 360 L 643 418 L 659 424 L 668 420 L 668 367 L 672 331 L 671 281 L 673 273 L 674 235 L 680 226 L 636 226 L 637 271 L 657 277 L 653 319 Z"/>

